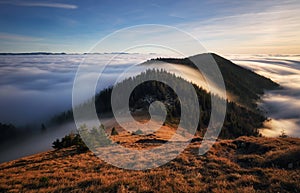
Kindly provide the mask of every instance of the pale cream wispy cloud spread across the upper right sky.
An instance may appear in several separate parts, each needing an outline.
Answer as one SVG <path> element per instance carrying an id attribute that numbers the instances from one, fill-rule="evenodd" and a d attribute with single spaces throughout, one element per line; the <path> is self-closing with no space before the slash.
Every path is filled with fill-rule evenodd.
<path id="1" fill-rule="evenodd" d="M 222 49 L 222 53 L 299 52 L 300 4 L 256 6 L 265 8 L 252 10 L 243 5 L 240 10 L 235 8 L 223 16 L 186 22 L 178 27 L 189 31 L 211 50 Z"/>

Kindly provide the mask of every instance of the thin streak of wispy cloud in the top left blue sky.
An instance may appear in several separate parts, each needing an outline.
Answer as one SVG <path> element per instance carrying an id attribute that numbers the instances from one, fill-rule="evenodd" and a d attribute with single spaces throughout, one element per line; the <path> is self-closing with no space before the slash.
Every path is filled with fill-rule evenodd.
<path id="1" fill-rule="evenodd" d="M 54 2 L 24 2 L 24 1 L 0 1 L 0 4 L 9 4 L 16 6 L 26 7 L 49 7 L 49 8 L 60 8 L 60 9 L 77 9 L 77 5 L 65 4 L 65 3 L 54 3 Z"/>

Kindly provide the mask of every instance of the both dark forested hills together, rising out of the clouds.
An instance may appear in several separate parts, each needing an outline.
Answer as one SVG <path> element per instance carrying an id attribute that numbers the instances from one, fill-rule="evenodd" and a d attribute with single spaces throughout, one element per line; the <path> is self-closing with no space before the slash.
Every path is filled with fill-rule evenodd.
<path id="1" fill-rule="evenodd" d="M 257 108 L 257 101 L 264 90 L 278 88 L 278 84 L 274 83 L 268 78 L 260 76 L 250 70 L 244 69 L 234 63 L 222 58 L 216 54 L 200 54 L 192 57 L 197 57 L 199 61 L 207 60 L 206 57 L 213 56 L 217 62 L 221 73 L 224 76 L 225 86 L 227 92 L 233 93 L 237 96 L 237 101 L 226 100 L 227 112 L 224 125 L 221 130 L 220 137 L 222 138 L 236 138 L 239 136 L 258 136 L 258 129 L 263 126 L 266 120 L 264 113 Z M 142 65 L 155 64 L 156 61 L 163 61 L 174 65 L 185 65 L 195 68 L 194 64 L 189 58 L 174 59 L 174 58 L 158 58 L 147 61 Z M 141 74 L 130 77 L 122 82 L 119 82 L 115 87 L 129 88 L 135 82 L 145 80 L 149 77 L 155 79 L 160 77 L 168 81 L 176 81 L 176 87 L 185 92 L 186 84 L 192 84 L 199 101 L 198 107 L 190 107 L 189 115 L 194 116 L 196 108 L 200 109 L 200 117 L 198 124 L 198 134 L 202 136 L 206 132 L 209 124 L 211 113 L 211 96 L 214 93 L 209 93 L 207 90 L 199 87 L 194 83 L 189 83 L 185 79 L 171 74 L 165 70 L 148 69 Z M 95 106 L 97 113 L 111 113 L 111 93 L 113 87 L 106 88 L 95 96 Z M 216 96 L 216 95 L 214 95 Z M 220 97 L 216 96 L 218 100 Z M 121 100 L 121 98 L 120 98 Z M 154 101 L 160 101 L 166 106 L 167 119 L 166 123 L 178 124 L 181 116 L 181 106 L 178 96 L 168 85 L 159 81 L 146 81 L 138 85 L 130 95 L 129 106 L 132 112 L 142 110 L 146 115 L 148 114 L 149 105 Z M 92 102 L 92 101 L 89 101 Z M 87 103 L 89 103 L 87 101 Z M 122 100 L 120 101 L 122 103 Z M 242 104 L 242 105 L 240 105 Z M 61 123 L 66 120 L 72 120 L 72 111 L 66 111 L 53 118 L 54 122 Z M 188 126 L 188 125 L 187 125 Z"/>

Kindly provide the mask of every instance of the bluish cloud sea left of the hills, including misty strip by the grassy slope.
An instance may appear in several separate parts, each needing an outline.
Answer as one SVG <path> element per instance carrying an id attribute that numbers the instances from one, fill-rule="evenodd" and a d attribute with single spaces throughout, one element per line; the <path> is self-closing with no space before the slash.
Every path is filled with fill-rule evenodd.
<path id="1" fill-rule="evenodd" d="M 111 58 L 114 60 L 111 61 Z M 94 55 L 1 55 L 0 56 L 0 122 L 30 129 L 30 135 L 8 140 L 0 146 L 0 163 L 51 149 L 52 142 L 74 132 L 74 123 L 49 126 L 51 117 L 72 108 L 72 89 L 79 65 L 92 66 L 86 76 L 97 78 L 106 64 L 96 91 L 116 81 L 124 69 L 140 64 L 154 54 Z M 128 73 L 133 76 L 140 69 Z M 126 76 L 124 77 L 126 78 Z M 85 88 L 80 88 L 83 100 Z M 41 132 L 40 124 L 47 130 Z M 36 129 L 35 129 L 36 128 Z M 1 132 L 1 131 L 0 131 Z"/>

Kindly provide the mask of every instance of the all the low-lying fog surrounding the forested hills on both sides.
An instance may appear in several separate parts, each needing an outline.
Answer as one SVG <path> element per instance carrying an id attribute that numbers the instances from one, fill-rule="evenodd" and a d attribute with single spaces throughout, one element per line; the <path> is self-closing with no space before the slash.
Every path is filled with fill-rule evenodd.
<path id="1" fill-rule="evenodd" d="M 109 62 L 111 54 L 90 56 L 96 65 Z M 103 73 L 105 80 L 98 85 L 101 90 L 115 82 L 124 69 L 158 55 L 121 54 L 111 68 Z M 72 103 L 72 86 L 78 65 L 84 55 L 18 55 L 0 56 L 0 122 L 22 126 L 40 124 L 56 113 L 68 110 Z M 263 130 L 264 135 L 278 136 L 282 129 L 290 136 L 300 137 L 300 56 L 228 56 L 235 63 L 270 77 L 284 89 L 267 92 L 261 106 L 273 120 L 266 123 L 272 129 Z M 160 66 L 162 67 L 162 66 Z M 166 67 L 169 69 L 169 67 Z M 144 67 L 127 74 L 132 76 Z M 169 69 L 170 70 L 170 69 Z M 198 74 L 188 68 L 170 70 L 186 74 L 185 79 L 203 84 Z M 97 76 L 97 72 L 94 74 Z M 84 89 L 83 89 L 84 90 Z M 74 124 L 48 128 L 22 142 L 11 141 L 0 148 L 0 162 L 51 149 L 51 143 L 71 130 Z"/>

